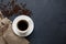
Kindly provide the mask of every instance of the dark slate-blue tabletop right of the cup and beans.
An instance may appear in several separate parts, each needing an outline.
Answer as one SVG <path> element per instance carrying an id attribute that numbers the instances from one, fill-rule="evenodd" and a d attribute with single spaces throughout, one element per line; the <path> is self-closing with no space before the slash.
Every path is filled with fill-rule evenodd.
<path id="1" fill-rule="evenodd" d="M 32 10 L 31 44 L 66 44 L 66 0 L 18 0 Z"/>

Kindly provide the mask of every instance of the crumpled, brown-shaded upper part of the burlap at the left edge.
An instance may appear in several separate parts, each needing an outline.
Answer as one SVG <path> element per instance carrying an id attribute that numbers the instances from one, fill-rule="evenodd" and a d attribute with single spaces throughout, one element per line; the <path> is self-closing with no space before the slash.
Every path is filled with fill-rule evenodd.
<path id="1" fill-rule="evenodd" d="M 0 36 L 3 34 L 6 30 L 8 30 L 9 24 L 11 23 L 12 22 L 8 18 L 0 20 Z"/>

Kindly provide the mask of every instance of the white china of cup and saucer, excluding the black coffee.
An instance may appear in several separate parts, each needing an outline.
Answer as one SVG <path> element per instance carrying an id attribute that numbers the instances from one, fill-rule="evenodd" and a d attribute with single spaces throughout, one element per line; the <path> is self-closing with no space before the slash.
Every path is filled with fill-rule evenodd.
<path id="1" fill-rule="evenodd" d="M 25 21 L 29 22 L 29 28 L 28 28 L 28 30 L 25 30 L 25 31 L 20 31 L 20 30 L 18 29 L 16 24 L 18 24 L 18 22 L 19 22 L 20 20 L 25 20 Z M 15 19 L 13 20 L 12 30 L 13 30 L 13 32 L 14 32 L 16 35 L 19 35 L 19 36 L 28 36 L 28 35 L 30 35 L 30 34 L 33 32 L 33 30 L 34 30 L 34 22 L 33 22 L 33 20 L 32 20 L 30 16 L 28 16 L 28 15 L 20 15 L 20 16 L 15 18 Z"/>

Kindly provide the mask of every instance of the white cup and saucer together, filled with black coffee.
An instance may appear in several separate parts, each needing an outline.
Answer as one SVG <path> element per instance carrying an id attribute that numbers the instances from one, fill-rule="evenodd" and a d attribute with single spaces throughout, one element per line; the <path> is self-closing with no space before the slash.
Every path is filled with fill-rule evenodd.
<path id="1" fill-rule="evenodd" d="M 19 36 L 28 36 L 34 30 L 34 22 L 28 15 L 19 15 L 13 20 L 12 30 Z"/>

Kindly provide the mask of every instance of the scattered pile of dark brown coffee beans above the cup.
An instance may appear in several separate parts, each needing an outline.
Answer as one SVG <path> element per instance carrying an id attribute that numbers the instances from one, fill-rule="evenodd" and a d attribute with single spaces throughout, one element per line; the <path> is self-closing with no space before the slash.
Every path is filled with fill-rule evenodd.
<path id="1" fill-rule="evenodd" d="M 10 0 L 8 4 L 3 3 L 3 0 L 0 3 L 0 10 L 3 13 L 3 15 L 10 18 L 13 14 L 24 14 L 29 15 L 32 13 L 29 9 L 25 8 L 26 3 L 16 3 L 16 0 Z"/>

